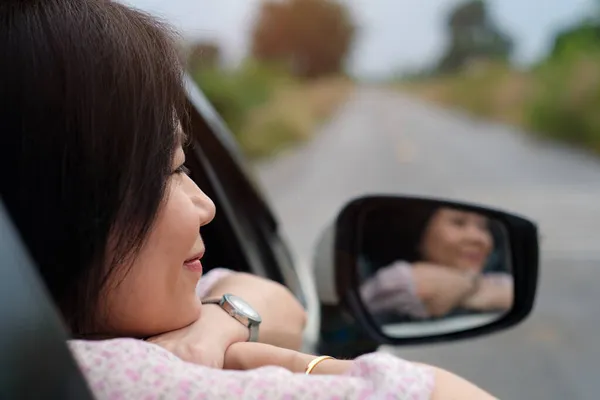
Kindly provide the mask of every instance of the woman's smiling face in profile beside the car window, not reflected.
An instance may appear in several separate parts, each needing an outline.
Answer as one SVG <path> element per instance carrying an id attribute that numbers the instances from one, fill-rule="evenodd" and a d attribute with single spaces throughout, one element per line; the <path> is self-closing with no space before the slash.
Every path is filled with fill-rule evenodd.
<path id="1" fill-rule="evenodd" d="M 179 147 L 175 172 L 147 241 L 133 263 L 123 266 L 126 274 L 117 270 L 107 286 L 101 304 L 106 315 L 102 326 L 109 334 L 151 336 L 182 328 L 200 316 L 195 294 L 202 275 L 198 259 L 204 253 L 200 227 L 214 218 L 215 206 L 182 171 L 184 161 Z"/>

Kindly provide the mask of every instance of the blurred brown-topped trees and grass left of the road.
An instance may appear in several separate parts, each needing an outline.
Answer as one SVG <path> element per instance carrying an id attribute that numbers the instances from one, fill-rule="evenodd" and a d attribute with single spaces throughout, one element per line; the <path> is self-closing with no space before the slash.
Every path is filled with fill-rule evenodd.
<path id="1" fill-rule="evenodd" d="M 271 157 L 309 140 L 350 95 L 354 31 L 337 1 L 264 1 L 244 62 L 225 68 L 219 46 L 199 42 L 188 69 L 245 154 Z"/>

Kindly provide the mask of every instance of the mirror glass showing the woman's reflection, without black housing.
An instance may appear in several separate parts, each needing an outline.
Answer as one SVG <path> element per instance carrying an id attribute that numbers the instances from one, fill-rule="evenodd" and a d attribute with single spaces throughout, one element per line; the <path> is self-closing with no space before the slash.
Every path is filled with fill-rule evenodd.
<path id="1" fill-rule="evenodd" d="M 376 207 L 360 228 L 357 289 L 387 336 L 463 331 L 510 311 L 510 260 L 507 230 L 484 214 L 419 200 Z"/>

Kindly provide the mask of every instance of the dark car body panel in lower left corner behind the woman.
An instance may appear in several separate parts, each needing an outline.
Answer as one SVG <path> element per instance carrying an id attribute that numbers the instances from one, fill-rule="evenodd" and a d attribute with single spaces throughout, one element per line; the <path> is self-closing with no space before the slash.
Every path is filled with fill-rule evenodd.
<path id="1" fill-rule="evenodd" d="M 0 201 L 0 399 L 92 399 L 65 326 Z"/>

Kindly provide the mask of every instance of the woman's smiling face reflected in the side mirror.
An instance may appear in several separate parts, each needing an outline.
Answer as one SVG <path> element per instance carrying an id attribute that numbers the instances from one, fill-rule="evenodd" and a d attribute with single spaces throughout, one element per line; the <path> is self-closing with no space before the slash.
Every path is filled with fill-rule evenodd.
<path id="1" fill-rule="evenodd" d="M 442 208 L 427 226 L 421 254 L 428 262 L 480 272 L 493 245 L 486 217 Z"/>

